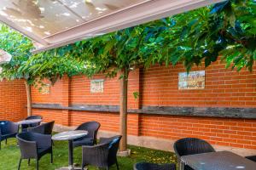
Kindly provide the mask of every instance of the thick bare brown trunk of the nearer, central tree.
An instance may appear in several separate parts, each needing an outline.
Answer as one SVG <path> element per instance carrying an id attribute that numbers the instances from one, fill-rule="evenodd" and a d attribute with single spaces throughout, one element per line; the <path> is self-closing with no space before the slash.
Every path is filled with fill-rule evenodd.
<path id="1" fill-rule="evenodd" d="M 127 149 L 127 88 L 128 88 L 128 74 L 129 72 L 124 70 L 121 71 L 123 78 L 119 79 L 119 90 L 120 90 L 120 124 L 119 130 L 122 135 L 120 141 L 119 150 L 125 151 Z"/>

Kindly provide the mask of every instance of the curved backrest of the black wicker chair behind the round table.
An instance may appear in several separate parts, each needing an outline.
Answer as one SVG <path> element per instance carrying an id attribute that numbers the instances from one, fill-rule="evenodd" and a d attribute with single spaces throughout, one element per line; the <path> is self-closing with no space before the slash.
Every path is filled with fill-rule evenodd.
<path id="1" fill-rule="evenodd" d="M 93 144 L 96 144 L 96 137 L 101 124 L 99 122 L 84 122 L 83 124 L 77 127 L 77 130 L 86 130 L 88 131 L 87 137 L 93 138 Z"/>

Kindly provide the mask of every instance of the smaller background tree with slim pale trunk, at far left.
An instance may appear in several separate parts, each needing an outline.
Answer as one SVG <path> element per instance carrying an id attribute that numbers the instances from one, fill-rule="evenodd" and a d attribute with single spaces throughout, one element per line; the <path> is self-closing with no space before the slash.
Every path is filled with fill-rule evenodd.
<path id="1" fill-rule="evenodd" d="M 8 26 L 0 25 L 0 48 L 9 52 L 12 59 L 0 65 L 0 79 L 24 79 L 26 84 L 27 114 L 32 114 L 31 85 L 49 79 L 54 83 L 64 75 L 73 76 L 84 71 L 83 61 L 67 55 L 47 55 L 31 53 L 32 41 Z"/>

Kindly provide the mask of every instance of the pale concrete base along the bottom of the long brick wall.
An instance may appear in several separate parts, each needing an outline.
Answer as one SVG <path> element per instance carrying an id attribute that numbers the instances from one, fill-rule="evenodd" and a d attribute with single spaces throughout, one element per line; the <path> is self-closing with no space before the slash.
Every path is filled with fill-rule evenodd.
<path id="1" fill-rule="evenodd" d="M 67 130 L 73 130 L 75 127 L 66 127 L 62 125 L 55 125 L 54 131 L 55 132 L 63 132 Z M 109 132 L 109 131 L 99 131 L 98 132 L 98 138 L 108 138 L 112 137 L 114 135 L 117 135 L 119 133 Z M 142 146 L 146 148 L 152 148 L 155 150 L 166 150 L 166 151 L 172 151 L 173 150 L 173 144 L 175 140 L 169 140 L 169 139 L 159 139 L 159 138 L 153 138 L 153 137 L 146 137 L 146 136 L 132 136 L 128 135 L 128 144 Z M 253 156 L 256 155 L 256 150 L 249 150 L 244 148 L 235 148 L 235 147 L 229 147 L 229 146 L 221 146 L 221 145 L 213 145 L 215 150 L 221 151 L 221 150 L 229 150 L 231 152 L 234 152 L 240 156 Z"/>

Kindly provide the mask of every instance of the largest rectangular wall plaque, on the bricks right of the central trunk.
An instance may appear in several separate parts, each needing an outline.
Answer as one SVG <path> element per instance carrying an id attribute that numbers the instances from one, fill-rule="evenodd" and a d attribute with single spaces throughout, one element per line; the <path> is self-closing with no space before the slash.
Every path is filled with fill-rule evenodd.
<path id="1" fill-rule="evenodd" d="M 205 88 L 205 71 L 191 71 L 178 73 L 178 89 L 203 89 Z"/>

